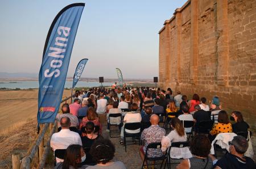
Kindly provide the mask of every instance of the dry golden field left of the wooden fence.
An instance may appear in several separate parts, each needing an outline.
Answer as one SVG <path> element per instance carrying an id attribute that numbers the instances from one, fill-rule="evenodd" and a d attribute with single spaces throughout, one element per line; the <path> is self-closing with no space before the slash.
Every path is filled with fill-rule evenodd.
<path id="1" fill-rule="evenodd" d="M 24 155 L 35 140 L 37 107 L 38 90 L 0 91 L 0 168 L 11 168 L 11 154 Z"/>

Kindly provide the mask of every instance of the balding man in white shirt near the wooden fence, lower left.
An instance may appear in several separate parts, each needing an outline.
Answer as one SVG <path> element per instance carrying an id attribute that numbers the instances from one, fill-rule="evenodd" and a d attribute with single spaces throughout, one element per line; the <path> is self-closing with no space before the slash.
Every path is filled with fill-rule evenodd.
<path id="1" fill-rule="evenodd" d="M 58 133 L 52 134 L 51 147 L 53 151 L 57 149 L 67 149 L 69 145 L 81 145 L 81 137 L 78 133 L 69 130 L 71 121 L 68 117 L 60 119 L 61 130 Z M 62 159 L 56 158 L 56 163 L 63 162 Z"/>

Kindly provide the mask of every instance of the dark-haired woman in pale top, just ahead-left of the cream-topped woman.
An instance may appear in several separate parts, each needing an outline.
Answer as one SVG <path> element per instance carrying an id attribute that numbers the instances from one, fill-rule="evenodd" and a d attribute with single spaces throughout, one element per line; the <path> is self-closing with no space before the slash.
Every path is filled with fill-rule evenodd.
<path id="1" fill-rule="evenodd" d="M 113 108 L 110 109 L 109 113 L 106 115 L 107 121 L 109 120 L 109 115 L 113 114 L 113 113 L 121 113 L 122 114 L 122 110 L 120 108 L 118 108 L 117 101 L 115 101 L 113 103 Z M 109 124 L 121 125 L 121 117 L 110 117 L 110 121 L 108 121 L 107 132 L 109 132 Z M 120 126 L 120 128 L 121 128 L 121 126 Z"/>

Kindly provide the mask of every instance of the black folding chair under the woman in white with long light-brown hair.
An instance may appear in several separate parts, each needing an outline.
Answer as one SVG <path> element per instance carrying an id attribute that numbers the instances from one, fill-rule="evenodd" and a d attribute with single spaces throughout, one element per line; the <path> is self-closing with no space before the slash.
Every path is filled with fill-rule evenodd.
<path id="1" fill-rule="evenodd" d="M 184 159 L 184 158 L 171 158 L 171 148 L 172 147 L 177 147 L 179 149 L 184 148 L 184 147 L 189 147 L 189 141 L 180 141 L 180 142 L 172 142 L 171 143 L 171 147 L 169 147 L 169 149 L 167 150 L 167 160 L 166 163 L 164 164 L 164 168 L 166 168 L 166 164 L 167 164 L 167 168 L 171 168 L 171 164 L 179 164 L 178 163 L 171 163 L 171 159 Z"/>

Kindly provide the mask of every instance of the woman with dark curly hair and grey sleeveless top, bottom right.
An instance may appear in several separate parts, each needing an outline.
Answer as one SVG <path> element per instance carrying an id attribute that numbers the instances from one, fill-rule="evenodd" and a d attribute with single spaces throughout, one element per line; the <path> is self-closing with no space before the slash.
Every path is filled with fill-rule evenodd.
<path id="1" fill-rule="evenodd" d="M 193 157 L 182 160 L 176 168 L 212 168 L 212 158 L 208 157 L 210 154 L 210 147 L 210 141 L 205 135 L 196 135 L 191 142 L 191 153 L 193 154 Z"/>

